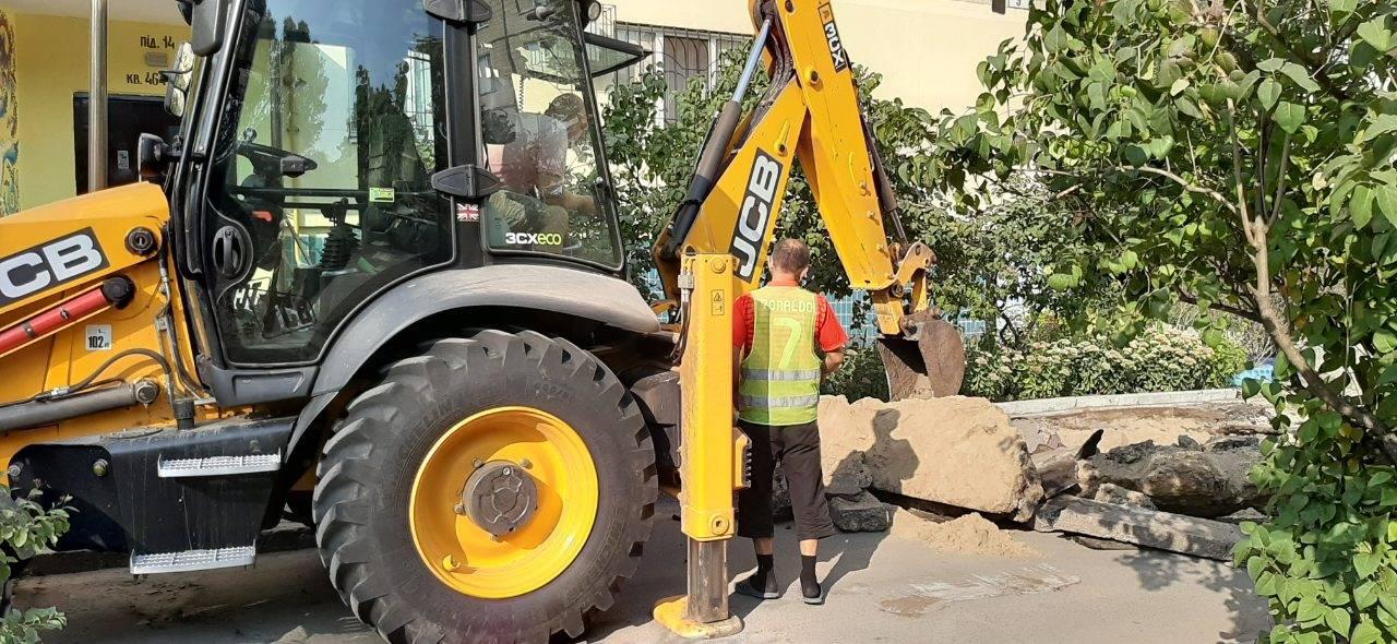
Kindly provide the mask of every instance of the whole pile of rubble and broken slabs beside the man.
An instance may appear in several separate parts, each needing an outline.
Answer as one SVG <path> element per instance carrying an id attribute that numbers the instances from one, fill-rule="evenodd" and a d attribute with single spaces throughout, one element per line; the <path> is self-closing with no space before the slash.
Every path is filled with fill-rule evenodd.
<path id="1" fill-rule="evenodd" d="M 1264 507 L 1248 472 L 1260 461 L 1261 434 L 1273 432 L 1264 411 L 1239 402 L 1011 422 L 983 398 L 820 400 L 826 495 L 840 529 L 891 529 L 1002 556 L 1031 549 L 986 517 L 1102 545 L 1225 557 L 1239 532 L 1213 520 Z M 775 483 L 775 506 L 789 514 L 780 469 Z M 970 514 L 936 521 L 886 500 Z"/>

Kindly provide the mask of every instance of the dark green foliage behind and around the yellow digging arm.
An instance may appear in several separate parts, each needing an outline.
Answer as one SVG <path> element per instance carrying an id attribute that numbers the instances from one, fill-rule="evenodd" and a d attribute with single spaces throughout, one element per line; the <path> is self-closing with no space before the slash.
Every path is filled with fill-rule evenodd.
<path id="1" fill-rule="evenodd" d="M 658 99 L 669 92 L 662 74 L 643 74 L 610 91 L 605 137 L 622 205 L 623 239 L 627 240 L 631 278 L 652 299 L 658 293 L 647 275 L 654 267 L 650 253 L 655 236 L 685 198 L 712 117 L 736 87 L 742 53 L 731 53 L 721 61 L 712 88 L 703 78 L 678 88 L 673 96 L 678 119 L 672 123 L 662 122 L 657 109 Z M 933 275 L 937 306 L 985 320 L 989 328 L 1000 328 L 1009 335 L 1006 339 L 1020 344 L 1018 335 L 1031 330 L 1018 327 L 1031 325 L 1037 316 L 1011 316 L 1011 305 L 1030 313 L 1077 314 L 1088 305 L 1116 296 L 1109 279 L 1084 279 L 1067 292 L 1048 288 L 1049 268 L 1055 263 L 1083 260 L 1094 247 L 1071 228 L 1060 226 L 1060 219 L 1073 214 L 1058 208 L 1055 196 L 1039 182 L 1007 182 L 995 189 L 996 198 L 986 200 L 983 207 L 953 211 L 926 180 L 936 161 L 937 119 L 900 99 L 875 98 L 880 84 L 877 74 L 859 68 L 858 82 L 863 110 L 898 194 L 907 233 L 926 242 L 937 254 Z M 749 108 L 766 88 L 766 80 L 760 78 L 749 94 Z M 799 169 L 792 175 L 777 233 L 798 235 L 810 244 L 813 288 L 833 296 L 849 293 L 848 279 Z"/>

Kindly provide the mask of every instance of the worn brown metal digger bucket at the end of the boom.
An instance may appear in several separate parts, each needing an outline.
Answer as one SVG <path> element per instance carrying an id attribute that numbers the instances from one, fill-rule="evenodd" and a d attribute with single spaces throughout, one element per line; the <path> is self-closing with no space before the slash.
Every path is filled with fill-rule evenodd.
<path id="1" fill-rule="evenodd" d="M 908 316 L 904 337 L 879 338 L 890 400 L 942 398 L 965 380 L 965 342 L 954 324 L 932 312 Z"/>

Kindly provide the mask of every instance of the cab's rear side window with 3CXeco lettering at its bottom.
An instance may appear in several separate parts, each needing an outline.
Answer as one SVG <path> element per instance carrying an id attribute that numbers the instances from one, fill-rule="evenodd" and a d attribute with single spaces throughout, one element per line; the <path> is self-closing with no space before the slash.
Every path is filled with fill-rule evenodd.
<path id="1" fill-rule="evenodd" d="M 577 3 L 492 0 L 478 38 L 488 246 L 620 267 Z"/>

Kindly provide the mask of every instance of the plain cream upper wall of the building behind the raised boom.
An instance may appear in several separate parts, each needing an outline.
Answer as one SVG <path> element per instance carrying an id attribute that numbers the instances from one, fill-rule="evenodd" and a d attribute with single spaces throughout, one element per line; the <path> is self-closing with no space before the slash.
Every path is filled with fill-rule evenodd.
<path id="1" fill-rule="evenodd" d="M 616 20 L 680 29 L 752 34 L 747 0 L 604 0 Z M 833 0 L 855 63 L 883 74 L 879 96 L 937 112 L 975 103 L 975 66 L 1004 39 L 1023 38 L 1028 13 L 1000 15 L 963 0 Z"/>

